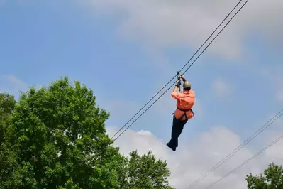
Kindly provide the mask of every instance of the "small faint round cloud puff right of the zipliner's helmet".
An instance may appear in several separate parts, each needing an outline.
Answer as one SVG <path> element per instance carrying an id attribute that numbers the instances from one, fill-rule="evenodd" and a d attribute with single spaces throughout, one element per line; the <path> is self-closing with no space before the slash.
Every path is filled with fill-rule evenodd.
<path id="1" fill-rule="evenodd" d="M 216 79 L 212 83 L 212 90 L 217 97 L 226 97 L 231 95 L 233 88 L 227 81 Z"/>

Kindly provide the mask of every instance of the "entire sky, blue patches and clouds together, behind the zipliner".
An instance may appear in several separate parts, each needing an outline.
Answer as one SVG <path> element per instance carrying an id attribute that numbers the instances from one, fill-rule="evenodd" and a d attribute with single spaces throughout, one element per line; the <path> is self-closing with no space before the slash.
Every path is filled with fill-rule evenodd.
<path id="1" fill-rule="evenodd" d="M 236 2 L 0 0 L 1 92 L 18 97 L 31 85 L 49 85 L 64 76 L 79 80 L 94 90 L 99 107 L 111 113 L 106 127 L 113 134 L 187 63 Z M 172 89 L 116 141 L 121 152 L 153 149 L 168 161 L 170 183 L 181 188 L 279 112 L 282 5 L 281 0 L 250 1 L 186 73 L 196 92 L 196 118 L 185 126 L 176 152 L 165 145 L 175 109 Z M 281 133 L 282 120 L 199 187 Z M 216 188 L 243 188 L 246 173 L 262 171 L 270 161 L 282 162 L 282 145 Z"/>

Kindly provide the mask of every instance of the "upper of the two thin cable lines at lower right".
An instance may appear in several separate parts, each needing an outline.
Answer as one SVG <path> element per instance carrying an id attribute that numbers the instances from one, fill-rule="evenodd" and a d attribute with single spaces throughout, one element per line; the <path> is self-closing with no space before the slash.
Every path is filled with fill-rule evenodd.
<path id="1" fill-rule="evenodd" d="M 279 117 L 281 117 L 283 114 L 283 109 L 278 112 L 274 117 L 272 117 L 272 119 L 274 119 L 273 121 L 276 121 Z M 278 117 L 279 115 L 279 117 Z M 257 135 L 259 135 L 260 133 L 262 133 L 262 131 L 265 131 L 265 129 L 267 129 L 268 126 L 270 126 L 270 121 L 272 121 L 272 119 L 270 119 L 269 121 L 267 121 L 260 129 L 258 129 L 257 131 L 255 131 L 254 134 L 252 134 L 248 139 L 246 139 L 242 144 L 240 144 L 240 146 L 238 146 L 237 148 L 235 148 L 231 153 L 228 154 L 228 156 L 226 156 L 225 158 L 223 158 L 221 161 L 219 161 L 215 166 L 213 166 L 213 168 L 211 168 L 211 170 L 209 170 L 209 172 L 205 173 L 204 175 L 201 175 L 201 177 L 199 179 L 197 179 L 196 181 L 194 181 L 194 183 L 192 183 L 191 185 L 188 186 L 187 189 L 192 188 L 192 186 L 196 185 L 197 183 L 199 183 L 201 180 L 203 180 L 204 178 L 206 178 L 207 175 L 209 175 L 210 173 L 212 173 L 216 168 L 218 168 L 219 166 L 221 166 L 223 163 L 225 163 L 229 158 L 231 158 L 233 155 L 235 155 L 235 153 L 237 153 L 238 151 L 240 151 L 241 148 L 243 148 L 245 145 L 249 144 L 250 141 L 252 141 Z M 272 121 L 272 123 L 273 123 Z"/>

